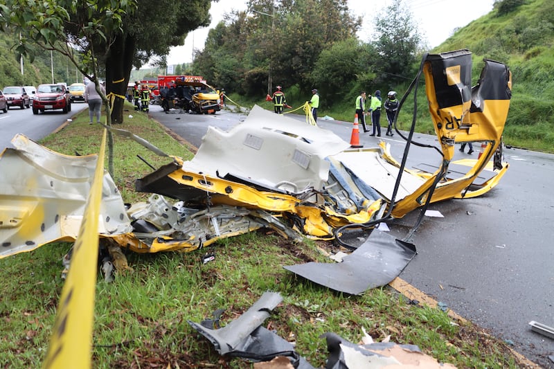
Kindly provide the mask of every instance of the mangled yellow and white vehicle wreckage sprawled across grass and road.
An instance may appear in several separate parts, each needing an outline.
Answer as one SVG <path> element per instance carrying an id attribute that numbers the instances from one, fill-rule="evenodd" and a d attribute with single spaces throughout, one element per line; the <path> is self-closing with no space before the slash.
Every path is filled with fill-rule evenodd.
<path id="1" fill-rule="evenodd" d="M 340 240 L 350 226 L 370 231 L 431 202 L 482 195 L 508 170 L 501 136 L 511 73 L 485 60 L 471 87 L 471 69 L 466 50 L 426 55 L 422 62 L 443 158 L 438 167 L 405 168 L 413 127 L 397 161 L 385 143 L 351 148 L 328 130 L 254 107 L 229 132 L 209 127 L 190 161 L 170 156 L 170 163 L 137 179 L 136 190 L 151 193 L 149 201 L 125 206 L 105 174 L 98 234 L 138 253 L 193 251 L 259 228 L 293 240 Z M 470 141 L 483 144 L 479 159 L 452 162 L 455 144 Z M 57 154 L 21 135 L 12 143 L 15 149 L 0 156 L 0 258 L 75 240 L 95 156 Z M 370 239 L 399 244 L 378 232 Z M 401 246 L 407 262 L 415 248 Z"/>

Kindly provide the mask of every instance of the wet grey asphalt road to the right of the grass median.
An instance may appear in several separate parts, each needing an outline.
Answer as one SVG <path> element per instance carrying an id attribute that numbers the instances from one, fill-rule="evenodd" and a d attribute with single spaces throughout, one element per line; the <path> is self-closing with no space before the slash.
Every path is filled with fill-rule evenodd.
<path id="1" fill-rule="evenodd" d="M 199 147 L 208 125 L 228 130 L 245 114 L 165 114 L 152 106 L 160 123 Z M 298 120 L 304 120 L 297 116 Z M 382 117 L 383 119 L 383 117 Z M 384 120 L 382 120 L 384 124 Z M 351 122 L 319 118 L 318 125 L 350 142 Z M 361 129 L 361 128 L 360 128 Z M 400 160 L 404 141 L 395 134 L 381 139 Z M 364 147 L 378 139 L 361 133 Z M 436 136 L 415 134 L 422 143 L 438 145 Z M 474 147 L 476 158 L 479 147 Z M 467 148 L 466 148 L 467 152 Z M 456 152 L 456 159 L 470 157 Z M 400 278 L 449 309 L 490 330 L 512 348 L 543 368 L 554 368 L 554 340 L 530 330 L 530 321 L 554 327 L 554 155 L 506 148 L 510 168 L 499 186 L 476 199 L 432 204 L 443 217 L 425 217 L 413 243 L 418 255 Z M 418 163 L 438 165 L 432 149 L 413 147 L 408 168 Z M 388 224 L 391 234 L 404 237 L 418 218 L 413 211 Z"/>

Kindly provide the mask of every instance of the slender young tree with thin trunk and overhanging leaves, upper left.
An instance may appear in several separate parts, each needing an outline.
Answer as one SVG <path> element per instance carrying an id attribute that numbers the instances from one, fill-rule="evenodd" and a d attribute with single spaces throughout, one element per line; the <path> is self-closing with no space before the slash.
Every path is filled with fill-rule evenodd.
<path id="1" fill-rule="evenodd" d="M 99 89 L 98 56 L 102 55 L 102 51 L 109 53 L 114 35 L 121 30 L 123 15 L 135 8 L 136 3 L 132 0 L 10 0 L 0 5 L 0 18 L 3 20 L 0 27 L 2 30 L 9 27 L 21 35 L 21 42 L 16 47 L 21 55 L 33 55 L 33 46 L 37 45 L 68 57 L 84 75 L 96 83 L 96 91 L 105 102 L 107 125 L 111 125 L 111 109 L 106 96 Z M 106 49 L 95 47 L 102 43 L 107 45 Z M 111 134 L 108 168 L 113 175 Z"/>

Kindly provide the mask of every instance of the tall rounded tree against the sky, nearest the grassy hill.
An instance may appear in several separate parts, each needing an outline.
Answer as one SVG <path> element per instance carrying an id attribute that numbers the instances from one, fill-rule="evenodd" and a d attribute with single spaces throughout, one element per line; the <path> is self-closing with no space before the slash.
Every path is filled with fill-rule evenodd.
<path id="1" fill-rule="evenodd" d="M 412 75 L 422 37 L 404 1 L 395 1 L 379 12 L 375 28 L 373 44 L 379 60 L 375 82 L 401 81 Z"/>

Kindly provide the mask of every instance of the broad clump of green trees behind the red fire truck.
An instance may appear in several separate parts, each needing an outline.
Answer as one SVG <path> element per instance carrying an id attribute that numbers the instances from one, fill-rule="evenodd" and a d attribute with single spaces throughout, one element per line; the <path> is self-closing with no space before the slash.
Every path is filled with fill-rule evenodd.
<path id="1" fill-rule="evenodd" d="M 354 37 L 347 0 L 251 0 L 208 33 L 195 66 L 226 91 L 265 93 L 267 82 L 312 89 L 321 51 Z M 212 73 L 212 74 L 209 74 Z"/>

